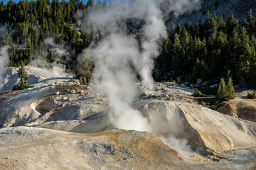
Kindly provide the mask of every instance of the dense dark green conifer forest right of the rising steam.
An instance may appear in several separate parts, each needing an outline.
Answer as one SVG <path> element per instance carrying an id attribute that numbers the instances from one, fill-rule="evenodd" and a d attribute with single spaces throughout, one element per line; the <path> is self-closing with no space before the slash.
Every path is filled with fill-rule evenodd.
<path id="1" fill-rule="evenodd" d="M 169 31 L 160 57 L 155 62 L 157 81 L 181 77 L 196 83 L 196 79 L 218 82 L 220 77 L 233 77 L 235 83 L 245 79 L 256 87 L 256 19 L 252 13 L 240 26 L 233 13 L 222 16 L 206 14 L 194 26 L 177 24 Z"/>

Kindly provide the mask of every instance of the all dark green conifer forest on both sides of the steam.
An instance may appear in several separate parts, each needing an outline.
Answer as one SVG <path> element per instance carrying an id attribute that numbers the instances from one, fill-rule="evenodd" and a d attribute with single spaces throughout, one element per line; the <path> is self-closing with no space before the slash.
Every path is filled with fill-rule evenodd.
<path id="1" fill-rule="evenodd" d="M 95 36 L 101 35 L 100 30 L 82 32 L 76 15 L 82 9 L 86 20 L 90 6 L 107 8 L 106 3 L 97 1 L 95 4 L 93 0 L 87 4 L 82 4 L 81 0 L 20 1 L 17 4 L 9 1 L 6 5 L 2 1 L 0 45 L 11 46 L 9 67 L 29 64 L 43 56 L 47 62 L 63 62 L 66 69 L 73 72 L 89 67 L 83 74 L 90 75 L 92 63 L 80 63 L 78 67 L 78 56 L 103 35 Z M 176 77 L 189 83 L 195 83 L 196 79 L 219 81 L 229 74 L 235 83 L 245 79 L 249 86 L 256 87 L 256 19 L 253 14 L 248 13 L 240 25 L 232 13 L 225 21 L 222 16 L 206 13 L 206 20 L 198 18 L 194 25 L 170 26 L 161 55 L 155 62 L 156 81 Z M 131 26 L 127 24 L 126 33 L 137 34 L 139 40 L 139 33 L 131 31 Z M 68 49 L 68 55 L 62 55 L 60 60 L 60 56 L 50 50 L 54 45 L 44 43 L 47 38 L 54 38 L 58 45 Z M 47 54 L 43 55 L 45 51 Z"/>

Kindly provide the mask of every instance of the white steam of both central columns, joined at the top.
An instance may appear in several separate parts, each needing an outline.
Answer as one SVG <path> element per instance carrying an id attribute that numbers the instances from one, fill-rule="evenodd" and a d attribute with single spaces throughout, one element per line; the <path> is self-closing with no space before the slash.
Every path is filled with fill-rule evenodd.
<path id="1" fill-rule="evenodd" d="M 92 83 L 109 97 L 110 121 L 118 128 L 156 132 L 154 125 L 132 108 L 132 101 L 137 95 L 137 86 L 134 85 L 137 73 L 144 86 L 154 89 L 151 76 L 154 59 L 159 55 L 161 41 L 167 36 L 160 9 L 164 2 L 166 1 L 138 0 L 124 4 L 122 1 L 115 1 L 107 8 L 92 7 L 85 16 L 85 31 L 105 31 L 105 38 L 90 45 L 85 50 L 84 57 L 90 58 L 95 64 Z M 168 2 L 168 11 L 175 15 L 191 12 L 200 4 L 196 0 Z M 126 33 L 126 21 L 129 19 L 143 23 L 139 30 L 142 36 L 141 48 L 135 35 Z M 168 138 L 166 141 L 175 138 L 166 134 L 165 137 Z M 186 145 L 186 141 L 182 143 Z"/>

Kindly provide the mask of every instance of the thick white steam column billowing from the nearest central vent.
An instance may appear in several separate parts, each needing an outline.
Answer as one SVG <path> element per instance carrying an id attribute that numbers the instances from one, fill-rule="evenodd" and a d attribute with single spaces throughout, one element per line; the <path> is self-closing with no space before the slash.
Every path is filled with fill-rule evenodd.
<path id="1" fill-rule="evenodd" d="M 151 131 L 148 120 L 131 107 L 137 94 L 131 67 L 140 55 L 137 47 L 133 37 L 112 33 L 85 55 L 95 63 L 92 82 L 109 97 L 112 123 L 119 128 Z"/>

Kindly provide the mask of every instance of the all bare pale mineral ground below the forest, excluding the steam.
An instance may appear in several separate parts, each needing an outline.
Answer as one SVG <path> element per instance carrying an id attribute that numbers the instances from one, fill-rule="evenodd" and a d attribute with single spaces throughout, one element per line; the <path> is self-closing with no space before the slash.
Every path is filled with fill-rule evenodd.
<path id="1" fill-rule="evenodd" d="M 256 169 L 256 123 L 198 105 L 194 89 L 137 83 L 133 107 L 153 130 L 118 130 L 93 84 L 26 69 L 33 89 L 0 94 L 0 169 Z M 231 105 L 252 103 L 243 96 Z"/>

